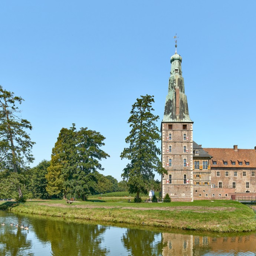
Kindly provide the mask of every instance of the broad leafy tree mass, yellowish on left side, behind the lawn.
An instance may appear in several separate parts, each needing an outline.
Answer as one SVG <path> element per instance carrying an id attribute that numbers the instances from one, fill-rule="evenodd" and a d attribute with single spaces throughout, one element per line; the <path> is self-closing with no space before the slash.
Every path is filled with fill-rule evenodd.
<path id="1" fill-rule="evenodd" d="M 87 128 L 62 128 L 52 150 L 50 166 L 47 169 L 47 192 L 50 195 L 76 194 L 86 200 L 95 193 L 98 171 L 104 170 L 100 160 L 109 157 L 101 147 L 105 137 Z"/>

